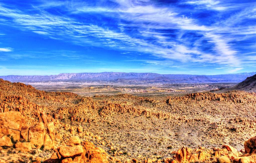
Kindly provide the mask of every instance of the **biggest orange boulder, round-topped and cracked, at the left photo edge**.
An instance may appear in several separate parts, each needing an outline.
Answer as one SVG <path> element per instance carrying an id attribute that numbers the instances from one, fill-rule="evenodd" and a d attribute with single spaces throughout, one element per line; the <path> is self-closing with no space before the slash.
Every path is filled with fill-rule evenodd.
<path id="1" fill-rule="evenodd" d="M 25 117 L 20 112 L 0 113 L 0 133 L 10 135 L 15 140 L 20 139 L 20 131 L 25 124 Z"/>

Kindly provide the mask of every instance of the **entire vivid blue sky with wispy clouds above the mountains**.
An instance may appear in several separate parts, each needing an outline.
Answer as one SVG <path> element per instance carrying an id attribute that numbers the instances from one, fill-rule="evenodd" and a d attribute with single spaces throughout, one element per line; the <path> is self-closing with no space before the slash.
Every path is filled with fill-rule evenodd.
<path id="1" fill-rule="evenodd" d="M 256 67 L 256 2 L 0 1 L 0 75 Z"/>

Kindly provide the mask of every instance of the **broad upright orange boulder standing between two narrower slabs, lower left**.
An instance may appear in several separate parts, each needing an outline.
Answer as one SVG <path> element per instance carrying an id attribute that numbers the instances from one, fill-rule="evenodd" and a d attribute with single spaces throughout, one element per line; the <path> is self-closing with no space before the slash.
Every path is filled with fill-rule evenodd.
<path id="1" fill-rule="evenodd" d="M 45 126 L 42 122 L 32 125 L 28 130 L 28 140 L 31 144 L 40 148 L 44 145 Z"/>

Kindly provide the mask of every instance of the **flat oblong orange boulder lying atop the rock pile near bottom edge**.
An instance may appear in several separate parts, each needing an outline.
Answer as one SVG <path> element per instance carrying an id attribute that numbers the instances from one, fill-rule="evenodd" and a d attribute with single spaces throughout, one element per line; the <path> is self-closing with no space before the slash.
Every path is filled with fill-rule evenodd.
<path id="1" fill-rule="evenodd" d="M 62 157 L 73 157 L 79 156 L 83 153 L 83 146 L 81 144 L 75 146 L 63 145 L 59 148 L 59 153 Z"/>

